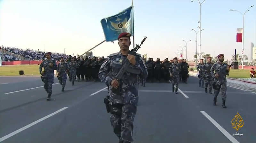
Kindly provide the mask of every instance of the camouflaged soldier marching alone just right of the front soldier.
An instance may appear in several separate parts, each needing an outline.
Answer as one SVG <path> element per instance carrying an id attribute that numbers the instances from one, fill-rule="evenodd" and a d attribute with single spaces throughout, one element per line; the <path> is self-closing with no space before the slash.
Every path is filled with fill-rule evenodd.
<path id="1" fill-rule="evenodd" d="M 181 67 L 178 63 L 178 58 L 173 58 L 173 61 L 174 63 L 170 65 L 169 73 L 172 78 L 172 92 L 175 90 L 175 93 L 178 94 Z"/>

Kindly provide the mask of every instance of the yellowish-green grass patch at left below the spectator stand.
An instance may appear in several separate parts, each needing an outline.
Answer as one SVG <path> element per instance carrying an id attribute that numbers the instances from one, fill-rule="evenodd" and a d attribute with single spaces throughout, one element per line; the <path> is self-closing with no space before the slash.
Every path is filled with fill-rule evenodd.
<path id="1" fill-rule="evenodd" d="M 0 67 L 0 75 L 15 76 L 19 75 L 19 71 L 23 70 L 24 75 L 40 75 L 39 65 L 17 65 Z"/>

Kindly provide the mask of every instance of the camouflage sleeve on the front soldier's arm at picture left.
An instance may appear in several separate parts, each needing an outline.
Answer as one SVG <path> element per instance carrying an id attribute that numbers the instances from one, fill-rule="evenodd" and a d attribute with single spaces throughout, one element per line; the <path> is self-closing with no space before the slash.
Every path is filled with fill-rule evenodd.
<path id="1" fill-rule="evenodd" d="M 107 86 L 110 86 L 110 82 L 114 79 L 110 74 L 110 64 L 111 64 L 111 57 L 109 56 L 108 59 L 106 59 L 103 64 L 100 66 L 98 77 L 101 82 L 104 82 L 107 84 Z"/>

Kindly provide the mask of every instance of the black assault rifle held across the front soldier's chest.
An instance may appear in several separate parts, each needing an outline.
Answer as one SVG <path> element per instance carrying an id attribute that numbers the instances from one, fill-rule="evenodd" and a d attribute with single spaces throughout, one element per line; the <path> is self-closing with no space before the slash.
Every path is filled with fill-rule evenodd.
<path id="1" fill-rule="evenodd" d="M 140 49 L 140 46 L 144 43 L 144 41 L 145 41 L 146 39 L 147 39 L 147 37 L 145 37 L 145 38 L 141 41 L 140 45 L 137 45 L 137 44 L 136 44 L 136 47 L 133 48 L 133 49 L 129 52 L 129 54 L 135 56 L 135 55 L 136 55 L 136 52 Z M 133 69 L 129 68 L 129 65 L 130 65 L 129 60 L 128 60 L 128 59 L 124 60 L 122 68 L 119 70 L 119 72 L 116 74 L 116 77 L 114 78 L 114 79 L 116 79 L 116 80 L 119 82 L 119 86 L 118 86 L 117 89 L 115 89 L 115 88 L 111 88 L 111 89 L 110 89 L 113 93 L 115 93 L 115 94 L 120 94 L 121 89 L 122 89 L 122 84 L 123 84 L 122 82 L 125 83 L 125 80 L 124 80 L 123 78 L 124 78 L 124 73 L 125 73 L 126 71 L 128 71 L 128 72 L 130 72 L 130 73 L 133 73 L 133 74 L 138 74 L 138 75 L 140 74 L 140 71 L 138 71 L 138 70 L 133 70 Z"/>

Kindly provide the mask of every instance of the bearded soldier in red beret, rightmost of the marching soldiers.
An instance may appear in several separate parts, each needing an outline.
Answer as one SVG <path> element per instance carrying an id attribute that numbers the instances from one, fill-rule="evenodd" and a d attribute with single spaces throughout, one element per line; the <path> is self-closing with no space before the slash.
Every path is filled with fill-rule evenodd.
<path id="1" fill-rule="evenodd" d="M 222 107 L 226 108 L 226 91 L 227 91 L 227 78 L 226 74 L 223 74 L 223 71 L 226 73 L 229 72 L 229 66 L 226 63 L 223 63 L 224 55 L 218 55 L 218 61 L 215 62 L 211 68 L 211 74 L 215 76 L 213 81 L 214 94 L 213 94 L 213 105 L 216 105 L 217 96 L 220 93 L 221 89 L 221 97 L 222 97 Z M 215 72 L 215 73 L 214 73 Z"/>

